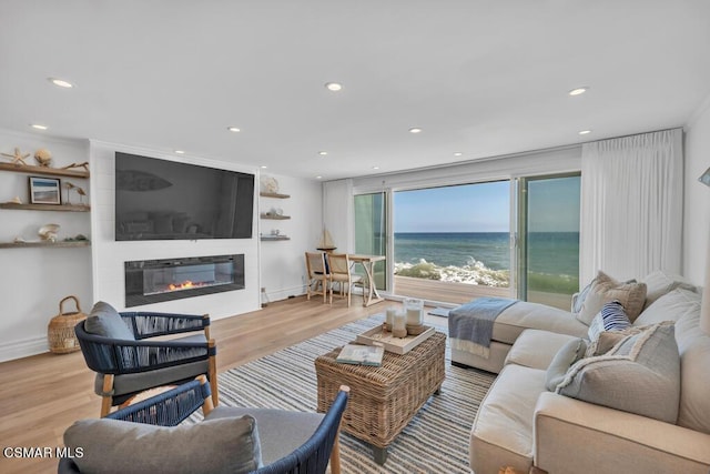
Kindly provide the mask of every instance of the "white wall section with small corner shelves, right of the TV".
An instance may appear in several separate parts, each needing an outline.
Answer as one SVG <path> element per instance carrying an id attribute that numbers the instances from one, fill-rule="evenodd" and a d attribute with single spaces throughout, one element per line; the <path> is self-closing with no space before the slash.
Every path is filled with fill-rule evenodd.
<path id="1" fill-rule="evenodd" d="M 261 243 L 261 286 L 266 290 L 268 301 L 284 300 L 305 292 L 306 263 L 304 252 L 318 244 L 322 220 L 321 182 L 278 174 L 263 173 L 262 179 L 274 178 L 278 192 L 290 199 L 260 198 L 260 212 L 280 208 L 286 221 L 260 219 L 260 229 L 268 234 L 272 229 L 291 238 L 287 241 Z"/>

